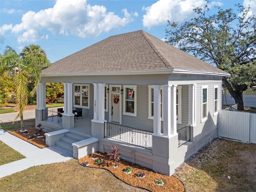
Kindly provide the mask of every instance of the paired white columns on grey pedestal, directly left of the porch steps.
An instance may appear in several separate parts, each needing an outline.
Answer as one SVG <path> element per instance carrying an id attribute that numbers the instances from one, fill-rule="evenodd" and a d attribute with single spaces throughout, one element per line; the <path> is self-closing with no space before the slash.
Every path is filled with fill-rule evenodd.
<path id="1" fill-rule="evenodd" d="M 74 128 L 73 110 L 73 83 L 64 84 L 64 113 L 62 113 L 62 128 Z"/>

